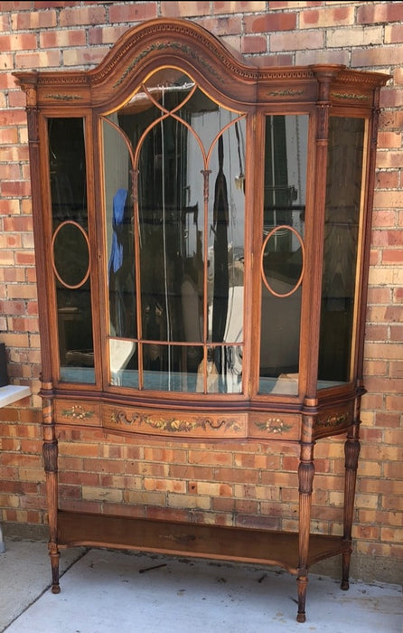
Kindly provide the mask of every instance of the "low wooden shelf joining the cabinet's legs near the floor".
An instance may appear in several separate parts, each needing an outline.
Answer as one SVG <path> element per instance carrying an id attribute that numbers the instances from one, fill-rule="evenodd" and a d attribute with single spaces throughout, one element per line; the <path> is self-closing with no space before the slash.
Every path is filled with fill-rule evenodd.
<path id="1" fill-rule="evenodd" d="M 298 534 L 294 532 L 59 511 L 58 545 L 278 565 L 290 573 L 298 573 Z M 339 553 L 348 553 L 350 547 L 340 536 L 311 534 L 308 567 Z"/>

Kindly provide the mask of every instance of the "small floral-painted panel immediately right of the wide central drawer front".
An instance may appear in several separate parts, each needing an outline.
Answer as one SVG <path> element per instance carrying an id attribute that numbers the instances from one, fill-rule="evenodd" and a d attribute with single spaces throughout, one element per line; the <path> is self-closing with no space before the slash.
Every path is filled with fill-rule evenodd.
<path id="1" fill-rule="evenodd" d="M 249 437 L 299 439 L 301 416 L 289 413 L 249 413 Z"/>

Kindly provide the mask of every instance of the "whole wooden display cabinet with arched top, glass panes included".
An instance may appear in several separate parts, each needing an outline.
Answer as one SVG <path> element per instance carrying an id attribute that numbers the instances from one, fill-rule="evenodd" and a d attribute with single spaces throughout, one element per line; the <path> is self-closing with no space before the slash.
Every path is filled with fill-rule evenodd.
<path id="1" fill-rule="evenodd" d="M 276 564 L 348 588 L 379 93 L 342 65 L 254 66 L 200 25 L 130 29 L 26 93 L 52 590 L 60 549 Z M 299 530 L 61 510 L 58 433 L 299 447 Z M 314 445 L 345 441 L 343 534 L 312 534 Z M 101 441 L 101 440 L 99 440 Z"/>

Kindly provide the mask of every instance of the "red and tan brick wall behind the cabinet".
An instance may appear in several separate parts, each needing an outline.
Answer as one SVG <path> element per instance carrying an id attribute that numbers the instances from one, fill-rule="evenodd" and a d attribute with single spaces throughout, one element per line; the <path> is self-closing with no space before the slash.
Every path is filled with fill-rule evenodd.
<path id="1" fill-rule="evenodd" d="M 353 536 L 355 572 L 399 581 L 403 552 L 403 3 L 1 2 L 0 341 L 12 382 L 33 398 L 0 410 L 0 518 L 46 522 L 39 389 L 40 342 L 26 145 L 17 69 L 82 69 L 102 60 L 133 24 L 190 18 L 258 63 L 344 63 L 392 75 L 382 91 L 365 346 L 362 449 Z M 69 440 L 73 439 L 71 443 Z M 296 528 L 296 449 L 258 445 L 204 450 L 100 431 L 60 437 L 63 507 L 146 511 L 209 522 Z M 340 534 L 342 442 L 316 448 L 314 530 Z M 221 483 L 218 483 L 221 482 Z M 123 505 L 122 505 L 123 504 Z M 135 510 L 133 505 L 135 505 Z M 371 565 L 371 567 L 370 567 Z M 368 569 L 370 567 L 370 572 Z M 389 572 L 389 575 L 388 575 Z"/>

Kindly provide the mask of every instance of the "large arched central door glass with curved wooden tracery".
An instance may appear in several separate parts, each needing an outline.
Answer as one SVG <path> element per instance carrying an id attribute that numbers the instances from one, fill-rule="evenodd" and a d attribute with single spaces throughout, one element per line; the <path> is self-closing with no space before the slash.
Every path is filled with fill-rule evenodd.
<path id="1" fill-rule="evenodd" d="M 164 68 L 102 121 L 110 383 L 242 392 L 244 117 Z"/>

